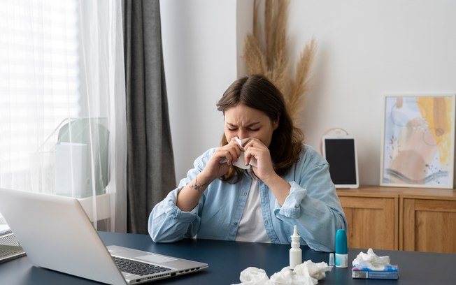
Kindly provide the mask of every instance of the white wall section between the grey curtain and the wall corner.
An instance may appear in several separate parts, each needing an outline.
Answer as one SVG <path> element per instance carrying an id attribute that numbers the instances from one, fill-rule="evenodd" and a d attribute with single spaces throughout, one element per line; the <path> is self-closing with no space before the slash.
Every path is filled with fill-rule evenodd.
<path id="1" fill-rule="evenodd" d="M 176 180 L 220 145 L 215 103 L 237 77 L 236 1 L 160 1 Z"/>

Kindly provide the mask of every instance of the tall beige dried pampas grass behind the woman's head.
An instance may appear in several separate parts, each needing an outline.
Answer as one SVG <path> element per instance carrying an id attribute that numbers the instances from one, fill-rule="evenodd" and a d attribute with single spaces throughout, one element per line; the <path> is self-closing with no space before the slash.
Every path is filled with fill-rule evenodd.
<path id="1" fill-rule="evenodd" d="M 248 74 L 262 74 L 269 78 L 285 96 L 285 103 L 295 126 L 301 123 L 305 98 L 309 91 L 311 66 L 317 43 L 312 39 L 301 52 L 292 78 L 287 57 L 288 0 L 264 1 L 264 47 L 260 43 L 257 23 L 258 5 L 255 0 L 253 34 L 245 36 L 244 62 Z"/>

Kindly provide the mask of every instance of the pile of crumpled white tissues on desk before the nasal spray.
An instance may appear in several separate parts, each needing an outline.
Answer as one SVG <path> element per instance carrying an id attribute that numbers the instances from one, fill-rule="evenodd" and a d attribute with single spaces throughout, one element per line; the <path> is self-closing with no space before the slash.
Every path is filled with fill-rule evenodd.
<path id="1" fill-rule="evenodd" d="M 332 266 L 328 266 L 325 262 L 313 263 L 308 260 L 296 265 L 294 270 L 287 266 L 274 273 L 269 279 L 264 270 L 249 267 L 241 272 L 239 277 L 241 283 L 236 285 L 315 285 L 318 284 L 318 280 L 325 278 L 325 272 L 331 269 Z"/>

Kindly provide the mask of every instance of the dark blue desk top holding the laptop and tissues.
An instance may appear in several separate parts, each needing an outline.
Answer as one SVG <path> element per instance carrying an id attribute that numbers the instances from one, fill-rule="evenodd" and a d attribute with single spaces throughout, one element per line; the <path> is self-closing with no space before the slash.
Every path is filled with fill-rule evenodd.
<path id="1" fill-rule="evenodd" d="M 217 240 L 183 240 L 173 244 L 155 244 L 148 235 L 100 233 L 106 245 L 117 244 L 158 254 L 194 259 L 209 264 L 209 268 L 190 275 L 164 279 L 153 284 L 238 284 L 239 274 L 254 266 L 266 270 L 269 277 L 288 265 L 290 246 L 252 242 Z M 329 254 L 303 249 L 303 261 L 328 262 Z M 366 249 L 350 249 L 351 261 Z M 383 251 L 379 256 L 390 256 L 399 265 L 398 280 L 352 279 L 350 268 L 333 268 L 318 284 L 456 284 L 456 254 L 433 254 L 411 251 Z M 26 257 L 0 265 L 0 284 L 97 284 L 90 280 L 64 275 L 52 270 L 36 268 Z"/>

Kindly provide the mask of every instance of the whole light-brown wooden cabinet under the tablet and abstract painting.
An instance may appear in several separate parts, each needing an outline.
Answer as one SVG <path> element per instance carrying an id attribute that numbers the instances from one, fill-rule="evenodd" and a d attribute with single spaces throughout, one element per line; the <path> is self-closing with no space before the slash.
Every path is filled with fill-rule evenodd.
<path id="1" fill-rule="evenodd" d="M 456 191 L 359 187 L 338 189 L 348 246 L 456 253 Z"/>

